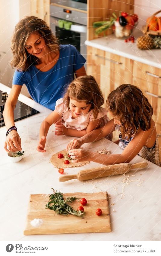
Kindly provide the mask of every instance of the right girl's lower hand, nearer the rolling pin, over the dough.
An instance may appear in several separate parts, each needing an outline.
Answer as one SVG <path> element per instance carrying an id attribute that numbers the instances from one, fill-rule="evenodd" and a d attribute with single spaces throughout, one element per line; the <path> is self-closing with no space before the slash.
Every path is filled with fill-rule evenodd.
<path id="1" fill-rule="evenodd" d="M 88 161 L 91 152 L 83 148 L 79 148 L 79 149 L 72 149 L 68 153 L 73 159 L 72 160 L 73 163 L 79 163 L 82 161 Z"/>

